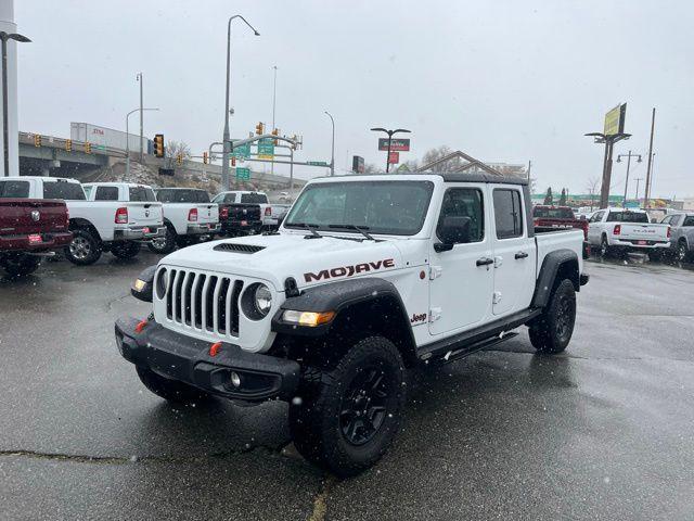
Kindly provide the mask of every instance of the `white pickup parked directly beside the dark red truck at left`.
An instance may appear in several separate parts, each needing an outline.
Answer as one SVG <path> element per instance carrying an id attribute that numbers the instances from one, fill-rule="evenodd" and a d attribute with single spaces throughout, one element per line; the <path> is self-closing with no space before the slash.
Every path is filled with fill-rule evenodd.
<path id="1" fill-rule="evenodd" d="M 140 242 L 165 232 L 162 204 L 152 201 L 88 201 L 79 181 L 60 177 L 21 177 L 29 183 L 29 199 L 62 199 L 69 212 L 73 240 L 65 257 L 77 265 L 93 264 L 102 252 L 131 258 Z"/>

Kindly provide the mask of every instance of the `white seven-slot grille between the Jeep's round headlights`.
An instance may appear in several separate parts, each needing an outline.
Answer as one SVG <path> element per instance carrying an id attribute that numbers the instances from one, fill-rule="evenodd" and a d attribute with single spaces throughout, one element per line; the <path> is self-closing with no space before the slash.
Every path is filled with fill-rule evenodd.
<path id="1" fill-rule="evenodd" d="M 184 269 L 169 269 L 166 316 L 174 323 L 223 336 L 239 336 L 243 281 Z"/>

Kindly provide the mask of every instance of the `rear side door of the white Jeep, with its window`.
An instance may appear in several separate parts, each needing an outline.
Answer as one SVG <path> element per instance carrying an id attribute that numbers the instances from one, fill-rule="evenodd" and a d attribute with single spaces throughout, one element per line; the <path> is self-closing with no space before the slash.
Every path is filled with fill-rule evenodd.
<path id="1" fill-rule="evenodd" d="M 517 185 L 494 185 L 493 212 L 493 315 L 526 308 L 535 291 L 536 245 L 526 226 L 523 190 Z"/>

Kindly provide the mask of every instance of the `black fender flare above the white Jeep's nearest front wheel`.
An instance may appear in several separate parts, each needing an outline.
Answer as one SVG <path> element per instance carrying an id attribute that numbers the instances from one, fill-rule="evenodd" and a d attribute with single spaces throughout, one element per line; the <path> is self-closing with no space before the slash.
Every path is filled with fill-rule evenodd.
<path id="1" fill-rule="evenodd" d="M 340 316 L 345 316 L 349 309 L 370 303 L 385 304 L 388 309 L 393 310 L 391 315 L 384 320 L 384 326 L 397 330 L 401 340 L 399 348 L 403 352 L 403 356 L 408 359 L 415 357 L 414 334 L 400 293 L 393 282 L 377 277 L 360 277 L 304 289 L 300 294 L 284 301 L 272 317 L 272 331 L 290 336 L 314 339 L 326 336 L 339 322 Z M 318 327 L 296 326 L 282 319 L 282 315 L 287 309 L 314 313 L 335 312 L 336 316 L 329 323 Z"/>

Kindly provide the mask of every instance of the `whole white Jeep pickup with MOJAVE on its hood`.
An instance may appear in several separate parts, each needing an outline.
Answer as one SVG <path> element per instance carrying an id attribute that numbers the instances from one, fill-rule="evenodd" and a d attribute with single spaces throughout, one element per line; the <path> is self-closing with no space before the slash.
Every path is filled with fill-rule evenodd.
<path id="1" fill-rule="evenodd" d="M 297 449 L 339 475 L 398 432 L 406 369 L 447 363 L 529 327 L 566 348 L 583 232 L 536 234 L 527 182 L 408 174 L 311 180 L 279 232 L 200 244 L 140 274 L 145 319 L 118 350 L 171 402 L 290 403 Z"/>

